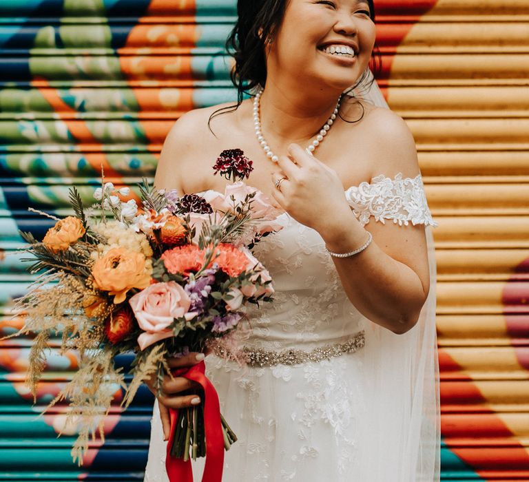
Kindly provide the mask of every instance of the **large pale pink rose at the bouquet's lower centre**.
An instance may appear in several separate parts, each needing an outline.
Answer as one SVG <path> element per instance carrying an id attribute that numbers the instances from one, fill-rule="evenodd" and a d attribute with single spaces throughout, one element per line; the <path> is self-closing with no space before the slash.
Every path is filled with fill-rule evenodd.
<path id="1" fill-rule="evenodd" d="M 173 331 L 167 326 L 175 318 L 193 319 L 196 313 L 188 313 L 191 300 L 182 286 L 174 281 L 151 284 L 134 295 L 129 304 L 138 320 L 138 325 L 145 332 L 138 337 L 141 350 L 172 337 Z"/>

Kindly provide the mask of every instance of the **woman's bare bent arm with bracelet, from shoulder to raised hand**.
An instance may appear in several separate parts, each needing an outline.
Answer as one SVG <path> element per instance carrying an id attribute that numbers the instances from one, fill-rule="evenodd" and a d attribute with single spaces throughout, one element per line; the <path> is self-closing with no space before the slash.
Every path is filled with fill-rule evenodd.
<path id="1" fill-rule="evenodd" d="M 400 117 L 381 110 L 385 112 L 373 125 L 380 135 L 373 158 L 376 173 L 393 178 L 402 172 L 413 178 L 419 174 L 413 136 Z M 367 249 L 333 262 L 344 291 L 362 315 L 394 333 L 405 333 L 417 322 L 430 286 L 424 226 L 399 226 L 392 220 L 382 224 L 371 218 L 364 229 L 346 202 L 335 171 L 297 145 L 289 150 L 291 159 L 280 159 L 289 180 L 274 197 L 293 218 L 318 231 L 335 253 L 362 246 L 366 229 L 371 231 L 373 242 Z"/>

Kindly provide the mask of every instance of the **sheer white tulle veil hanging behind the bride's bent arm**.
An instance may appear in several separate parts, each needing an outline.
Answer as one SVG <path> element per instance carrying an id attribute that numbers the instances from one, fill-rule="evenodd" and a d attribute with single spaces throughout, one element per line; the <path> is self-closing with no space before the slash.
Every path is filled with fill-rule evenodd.
<path id="1" fill-rule="evenodd" d="M 367 70 L 347 92 L 389 109 Z M 360 421 L 360 474 L 351 480 L 433 482 L 440 476 L 439 364 L 432 227 L 426 226 L 430 292 L 417 325 L 404 335 L 366 325 L 363 363 L 369 410 Z"/>

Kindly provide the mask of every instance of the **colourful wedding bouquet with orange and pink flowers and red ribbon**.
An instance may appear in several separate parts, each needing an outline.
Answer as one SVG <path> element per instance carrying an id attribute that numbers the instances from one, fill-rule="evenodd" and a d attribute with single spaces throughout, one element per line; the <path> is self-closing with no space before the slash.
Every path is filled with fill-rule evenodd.
<path id="1" fill-rule="evenodd" d="M 123 200 L 128 188 L 102 178 L 94 192 L 98 202 L 89 209 L 70 189 L 75 216 L 55 218 L 42 242 L 23 233 L 29 271 L 37 275 L 17 301 L 25 315 L 17 335 L 37 333 L 28 384 L 35 394 L 50 337 L 62 333 L 61 353 L 74 350 L 79 370 L 48 408 L 70 401 L 67 423 L 79 433 L 72 449 L 79 463 L 90 437 L 98 432 L 104 440 L 103 418 L 116 386 L 125 390 L 127 407 L 143 381 L 154 378 L 160 391 L 165 375 L 194 379 L 205 390 L 199 406 L 172 410 L 168 463 L 169 457 L 187 463 L 190 451 L 193 458 L 205 456 L 210 446 L 218 454 L 212 444 L 219 441 L 223 457 L 236 440 L 220 416 L 204 363 L 172 372 L 167 357 L 218 344 L 236 330 L 247 304 L 271 300 L 271 277 L 250 249 L 280 229 L 279 211 L 243 182 L 251 164 L 240 149 L 222 151 L 214 174 L 232 181 L 225 193 L 178 196 L 143 180 L 140 205 Z M 129 352 L 135 357 L 127 384 L 114 361 Z"/>

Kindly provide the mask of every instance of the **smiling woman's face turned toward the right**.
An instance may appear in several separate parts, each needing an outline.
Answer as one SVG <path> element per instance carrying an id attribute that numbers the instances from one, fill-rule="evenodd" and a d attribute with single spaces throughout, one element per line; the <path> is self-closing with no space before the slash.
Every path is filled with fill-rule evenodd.
<path id="1" fill-rule="evenodd" d="M 369 65 L 374 45 L 367 1 L 289 0 L 270 45 L 268 72 L 345 90 Z"/>

